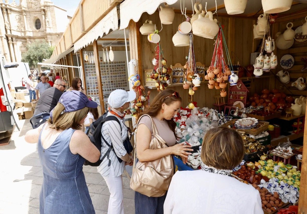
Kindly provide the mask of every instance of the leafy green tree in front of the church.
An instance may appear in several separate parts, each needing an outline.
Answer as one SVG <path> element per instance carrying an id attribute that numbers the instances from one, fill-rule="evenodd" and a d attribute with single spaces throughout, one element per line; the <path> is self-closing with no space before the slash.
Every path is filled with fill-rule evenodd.
<path id="1" fill-rule="evenodd" d="M 44 40 L 38 40 L 27 45 L 27 52 L 22 54 L 22 61 L 28 62 L 30 68 L 37 68 L 37 63 L 49 59 L 54 47 L 50 47 Z"/>

